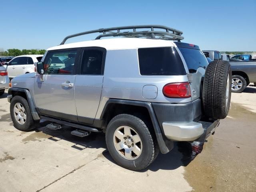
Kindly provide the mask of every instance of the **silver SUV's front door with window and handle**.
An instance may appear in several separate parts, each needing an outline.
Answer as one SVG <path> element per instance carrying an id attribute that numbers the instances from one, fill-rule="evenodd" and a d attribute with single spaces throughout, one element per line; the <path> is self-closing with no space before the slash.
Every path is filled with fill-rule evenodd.
<path id="1" fill-rule="evenodd" d="M 81 48 L 48 51 L 44 75 L 36 75 L 34 97 L 43 115 L 77 121 L 74 84 Z"/>

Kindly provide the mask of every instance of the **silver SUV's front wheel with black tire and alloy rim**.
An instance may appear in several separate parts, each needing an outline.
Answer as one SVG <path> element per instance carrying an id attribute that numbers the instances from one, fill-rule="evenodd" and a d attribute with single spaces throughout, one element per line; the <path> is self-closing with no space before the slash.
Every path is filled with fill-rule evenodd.
<path id="1" fill-rule="evenodd" d="M 21 96 L 14 96 L 10 104 L 10 113 L 13 125 L 20 131 L 29 131 L 34 128 L 34 120 L 28 101 Z"/>

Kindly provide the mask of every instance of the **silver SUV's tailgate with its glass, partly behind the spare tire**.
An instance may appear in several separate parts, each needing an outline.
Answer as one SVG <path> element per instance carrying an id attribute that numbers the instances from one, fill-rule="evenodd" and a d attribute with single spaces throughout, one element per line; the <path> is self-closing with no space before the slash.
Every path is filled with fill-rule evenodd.
<path id="1" fill-rule="evenodd" d="M 185 43 L 176 43 L 185 62 L 190 74 L 190 90 L 192 100 L 201 97 L 202 84 L 204 80 L 204 73 L 208 65 L 207 59 L 198 46 Z"/>

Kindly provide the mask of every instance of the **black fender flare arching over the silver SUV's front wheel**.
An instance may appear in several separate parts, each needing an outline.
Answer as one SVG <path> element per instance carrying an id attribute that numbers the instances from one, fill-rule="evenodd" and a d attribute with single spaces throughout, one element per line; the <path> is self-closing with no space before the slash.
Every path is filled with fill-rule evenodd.
<path id="1" fill-rule="evenodd" d="M 35 105 L 34 105 L 34 102 L 32 100 L 32 97 L 31 97 L 31 94 L 30 94 L 29 90 L 23 89 L 23 88 L 12 87 L 12 88 L 8 89 L 8 94 L 12 95 L 13 91 L 15 91 L 15 92 L 24 92 L 26 94 L 27 100 L 28 100 L 28 105 L 30 107 L 30 111 L 31 111 L 33 119 L 34 120 L 40 120 L 40 117 L 39 117 L 38 113 L 36 112 L 36 108 L 35 108 Z M 10 98 L 10 101 L 11 100 L 12 100 L 12 98 Z"/>

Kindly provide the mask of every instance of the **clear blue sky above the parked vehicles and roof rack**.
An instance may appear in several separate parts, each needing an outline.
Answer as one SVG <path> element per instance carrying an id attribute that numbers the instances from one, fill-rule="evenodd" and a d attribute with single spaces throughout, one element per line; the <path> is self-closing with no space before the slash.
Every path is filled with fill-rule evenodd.
<path id="1" fill-rule="evenodd" d="M 0 10 L 4 50 L 47 49 L 86 30 L 160 24 L 202 50 L 256 51 L 256 0 L 2 0 Z"/>

